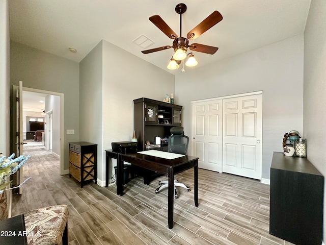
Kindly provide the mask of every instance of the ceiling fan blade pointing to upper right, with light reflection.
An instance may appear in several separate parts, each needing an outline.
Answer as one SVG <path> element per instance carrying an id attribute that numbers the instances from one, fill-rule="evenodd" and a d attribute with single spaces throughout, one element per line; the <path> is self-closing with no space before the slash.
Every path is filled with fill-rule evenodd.
<path id="1" fill-rule="evenodd" d="M 214 11 L 211 13 L 206 19 L 200 22 L 193 30 L 188 32 L 187 38 L 194 40 L 204 32 L 206 32 L 211 27 L 215 26 L 215 24 L 219 23 L 223 19 L 222 14 L 219 11 Z"/>

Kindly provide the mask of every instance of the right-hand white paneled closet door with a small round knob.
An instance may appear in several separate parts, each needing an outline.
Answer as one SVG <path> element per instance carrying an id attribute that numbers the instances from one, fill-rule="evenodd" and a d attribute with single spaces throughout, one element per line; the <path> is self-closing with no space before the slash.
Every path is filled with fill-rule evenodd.
<path id="1" fill-rule="evenodd" d="M 261 179 L 262 94 L 223 100 L 223 172 Z"/>

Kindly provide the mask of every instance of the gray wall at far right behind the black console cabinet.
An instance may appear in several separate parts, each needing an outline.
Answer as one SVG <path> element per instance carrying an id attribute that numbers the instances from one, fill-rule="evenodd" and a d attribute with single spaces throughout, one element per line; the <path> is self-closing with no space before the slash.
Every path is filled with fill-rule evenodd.
<path id="1" fill-rule="evenodd" d="M 305 29 L 304 138 L 307 158 L 326 176 L 326 2 L 311 1 Z M 326 182 L 324 191 L 326 190 Z M 326 237 L 324 193 L 323 237 Z"/>

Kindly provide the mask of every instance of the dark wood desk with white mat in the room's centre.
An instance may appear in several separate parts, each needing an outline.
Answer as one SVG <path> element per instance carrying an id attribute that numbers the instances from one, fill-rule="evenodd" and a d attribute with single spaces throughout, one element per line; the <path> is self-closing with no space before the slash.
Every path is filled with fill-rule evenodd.
<path id="1" fill-rule="evenodd" d="M 183 156 L 175 159 L 165 159 L 139 153 L 116 153 L 106 150 L 106 183 L 108 181 L 108 158 L 117 159 L 117 194 L 123 195 L 123 162 L 157 171 L 168 176 L 168 224 L 173 227 L 173 204 L 174 204 L 174 175 L 189 168 L 194 168 L 194 201 L 198 207 L 198 157 Z"/>

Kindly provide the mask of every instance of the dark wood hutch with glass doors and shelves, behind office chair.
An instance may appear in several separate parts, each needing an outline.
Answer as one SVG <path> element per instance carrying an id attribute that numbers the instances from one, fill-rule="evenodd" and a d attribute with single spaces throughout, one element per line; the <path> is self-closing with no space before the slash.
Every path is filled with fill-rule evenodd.
<path id="1" fill-rule="evenodd" d="M 170 129 L 181 125 L 182 106 L 140 98 L 134 103 L 134 130 L 139 148 L 145 150 L 146 141 L 155 143 L 155 137 L 169 137 Z"/>

